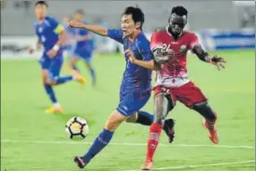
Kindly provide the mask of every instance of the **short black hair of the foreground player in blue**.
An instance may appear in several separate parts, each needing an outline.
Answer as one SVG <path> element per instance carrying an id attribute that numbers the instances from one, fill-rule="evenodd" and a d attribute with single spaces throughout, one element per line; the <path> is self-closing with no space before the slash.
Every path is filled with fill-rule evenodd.
<path id="1" fill-rule="evenodd" d="M 142 25 L 145 21 L 144 13 L 139 7 L 126 7 L 122 15 L 132 15 L 133 20 L 136 22 L 140 22 L 140 29 L 142 29 Z"/>

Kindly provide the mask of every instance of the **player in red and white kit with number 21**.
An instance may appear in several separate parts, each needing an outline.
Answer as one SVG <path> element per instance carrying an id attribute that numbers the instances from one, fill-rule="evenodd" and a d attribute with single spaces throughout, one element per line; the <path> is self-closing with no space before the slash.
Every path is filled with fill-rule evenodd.
<path id="1" fill-rule="evenodd" d="M 175 107 L 176 101 L 180 101 L 188 108 L 199 112 L 203 117 L 203 125 L 206 127 L 209 138 L 214 144 L 219 143 L 219 137 L 215 127 L 217 114 L 209 106 L 205 95 L 200 88 L 188 79 L 186 68 L 187 52 L 192 52 L 201 60 L 224 68 L 224 59 L 210 56 L 203 50 L 195 33 L 183 31 L 188 19 L 188 11 L 185 7 L 173 7 L 169 25 L 158 30 L 151 36 L 150 47 L 156 62 L 162 64 L 162 70 L 157 72 L 154 86 L 155 121 L 149 129 L 148 151 L 142 170 L 150 170 L 154 153 L 159 143 L 159 138 L 164 125 L 164 119 L 168 112 Z"/>

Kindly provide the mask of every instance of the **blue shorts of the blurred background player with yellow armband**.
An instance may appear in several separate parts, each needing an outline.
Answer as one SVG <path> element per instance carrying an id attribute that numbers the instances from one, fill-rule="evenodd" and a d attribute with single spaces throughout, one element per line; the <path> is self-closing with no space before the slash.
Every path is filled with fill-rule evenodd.
<path id="1" fill-rule="evenodd" d="M 42 57 L 39 60 L 39 63 L 42 70 L 49 71 L 50 79 L 56 80 L 60 75 L 64 59 L 62 57 L 54 57 L 53 59 L 50 59 L 49 57 Z"/>

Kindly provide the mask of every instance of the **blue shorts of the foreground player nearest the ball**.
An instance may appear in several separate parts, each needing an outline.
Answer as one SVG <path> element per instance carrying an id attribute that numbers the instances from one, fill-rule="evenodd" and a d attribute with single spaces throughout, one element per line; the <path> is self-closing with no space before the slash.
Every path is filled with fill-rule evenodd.
<path id="1" fill-rule="evenodd" d="M 149 101 L 150 91 L 134 91 L 121 97 L 117 111 L 124 116 L 131 116 L 138 112 Z"/>

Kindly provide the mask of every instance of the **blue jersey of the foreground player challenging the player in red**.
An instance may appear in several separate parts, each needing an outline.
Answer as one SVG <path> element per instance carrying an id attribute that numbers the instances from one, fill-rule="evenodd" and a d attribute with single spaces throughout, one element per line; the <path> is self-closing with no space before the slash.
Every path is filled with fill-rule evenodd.
<path id="1" fill-rule="evenodd" d="M 134 52 L 136 59 L 153 59 L 149 40 L 144 33 L 139 33 L 134 42 L 131 42 L 128 37 L 123 36 L 121 30 L 108 30 L 107 36 L 121 43 L 124 51 L 130 48 Z M 126 67 L 121 82 L 121 96 L 125 96 L 127 93 L 134 92 L 136 90 L 150 91 L 151 71 L 131 63 L 126 55 L 125 60 Z"/>

